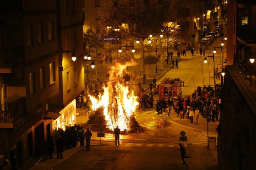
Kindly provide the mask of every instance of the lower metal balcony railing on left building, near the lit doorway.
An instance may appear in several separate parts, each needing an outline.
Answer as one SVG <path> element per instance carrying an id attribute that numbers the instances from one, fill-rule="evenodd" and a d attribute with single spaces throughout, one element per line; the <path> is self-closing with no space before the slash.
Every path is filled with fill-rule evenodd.
<path id="1" fill-rule="evenodd" d="M 22 97 L 13 103 L 5 103 L 0 108 L 0 123 L 13 123 L 26 115 L 26 97 Z"/>

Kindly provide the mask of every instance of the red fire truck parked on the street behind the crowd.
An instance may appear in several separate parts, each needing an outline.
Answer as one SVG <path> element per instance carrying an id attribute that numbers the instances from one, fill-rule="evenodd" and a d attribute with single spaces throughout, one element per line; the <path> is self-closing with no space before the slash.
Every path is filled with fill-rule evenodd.
<path id="1" fill-rule="evenodd" d="M 178 78 L 165 78 L 159 85 L 159 99 L 163 99 L 165 94 L 171 97 L 178 96 L 181 91 L 182 83 L 184 83 L 184 81 Z"/>

